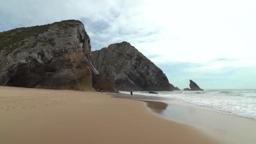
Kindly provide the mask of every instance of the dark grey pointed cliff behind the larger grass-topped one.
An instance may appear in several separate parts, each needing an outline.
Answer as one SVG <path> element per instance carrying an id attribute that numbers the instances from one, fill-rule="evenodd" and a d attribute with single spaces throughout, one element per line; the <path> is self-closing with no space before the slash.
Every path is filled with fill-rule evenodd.
<path id="1" fill-rule="evenodd" d="M 162 70 L 127 42 L 92 52 L 95 68 L 114 82 L 118 91 L 179 90 Z"/>

